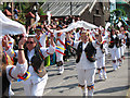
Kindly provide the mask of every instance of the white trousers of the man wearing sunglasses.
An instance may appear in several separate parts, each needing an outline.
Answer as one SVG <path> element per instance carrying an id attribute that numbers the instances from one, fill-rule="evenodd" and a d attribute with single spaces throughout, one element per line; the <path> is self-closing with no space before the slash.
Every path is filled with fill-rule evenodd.
<path id="1" fill-rule="evenodd" d="M 47 85 L 48 74 L 46 74 L 42 79 L 36 84 L 32 82 L 34 78 L 29 77 L 27 81 L 23 82 L 24 90 L 26 96 L 43 96 L 43 90 Z"/>

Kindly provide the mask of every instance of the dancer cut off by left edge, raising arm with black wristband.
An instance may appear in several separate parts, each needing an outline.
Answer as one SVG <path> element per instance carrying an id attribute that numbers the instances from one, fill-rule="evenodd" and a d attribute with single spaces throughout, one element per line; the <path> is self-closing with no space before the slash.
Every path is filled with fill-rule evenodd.
<path id="1" fill-rule="evenodd" d="M 28 68 L 27 60 L 25 59 L 24 51 L 21 50 L 25 41 L 26 41 L 26 38 L 23 38 L 18 42 L 20 51 L 18 51 L 18 62 L 16 63 L 16 65 L 3 65 L 3 64 L 6 64 L 6 62 L 5 62 L 5 58 L 2 58 L 2 61 L 3 61 L 2 63 L 2 83 L 3 83 L 2 84 L 2 97 L 10 96 L 10 89 L 11 89 L 10 83 L 13 79 L 17 79 L 21 76 L 28 75 L 26 73 L 27 68 Z M 3 39 L 3 44 L 5 46 L 5 49 L 10 47 L 5 39 Z"/>

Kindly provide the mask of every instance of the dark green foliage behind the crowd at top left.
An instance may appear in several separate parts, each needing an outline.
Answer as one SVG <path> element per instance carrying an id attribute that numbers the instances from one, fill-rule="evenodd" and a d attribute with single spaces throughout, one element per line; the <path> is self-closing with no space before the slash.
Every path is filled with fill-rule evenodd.
<path id="1" fill-rule="evenodd" d="M 35 12 L 36 12 L 34 9 L 34 5 L 37 5 L 37 11 L 38 11 L 39 15 L 46 15 L 46 13 L 43 13 L 42 9 L 39 9 L 42 4 L 43 4 L 43 2 L 38 2 L 38 3 L 37 2 L 14 2 L 14 8 L 20 10 L 18 22 L 25 25 L 25 23 L 26 23 L 25 15 L 28 12 L 31 12 L 32 14 L 35 14 Z M 9 3 L 4 2 L 3 3 L 3 11 L 6 9 L 6 7 L 9 7 Z M 11 12 L 11 10 L 10 10 L 10 12 Z"/>

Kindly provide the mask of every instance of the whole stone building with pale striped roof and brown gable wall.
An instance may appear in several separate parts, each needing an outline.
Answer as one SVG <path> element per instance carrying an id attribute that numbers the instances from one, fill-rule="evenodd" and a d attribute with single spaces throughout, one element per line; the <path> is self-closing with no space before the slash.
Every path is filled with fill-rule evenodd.
<path id="1" fill-rule="evenodd" d="M 52 19 L 73 15 L 96 26 L 105 26 L 110 15 L 109 0 L 106 2 L 96 2 L 96 0 L 92 0 L 92 2 L 44 2 L 41 8 L 44 13 L 51 11 Z"/>

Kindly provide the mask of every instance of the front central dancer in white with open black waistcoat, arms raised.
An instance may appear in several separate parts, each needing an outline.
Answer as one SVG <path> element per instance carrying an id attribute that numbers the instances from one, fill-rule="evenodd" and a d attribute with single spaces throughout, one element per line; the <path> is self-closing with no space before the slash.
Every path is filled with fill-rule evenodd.
<path id="1" fill-rule="evenodd" d="M 94 75 L 95 75 L 95 53 L 96 47 L 100 46 L 101 36 L 99 36 L 98 41 L 92 41 L 89 32 L 83 30 L 81 33 L 81 41 L 73 41 L 67 34 L 67 40 L 70 45 L 77 49 L 76 68 L 78 72 L 79 87 L 81 87 L 83 96 L 93 96 L 94 89 Z"/>

